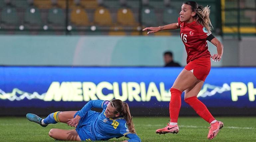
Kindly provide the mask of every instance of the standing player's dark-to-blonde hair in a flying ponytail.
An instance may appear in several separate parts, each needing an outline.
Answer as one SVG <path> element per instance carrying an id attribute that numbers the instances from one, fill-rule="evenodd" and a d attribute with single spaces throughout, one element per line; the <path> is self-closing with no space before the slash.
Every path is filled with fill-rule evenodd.
<path id="1" fill-rule="evenodd" d="M 206 7 L 203 7 L 201 5 L 198 5 L 194 1 L 187 1 L 183 4 L 191 6 L 192 11 L 195 12 L 195 16 L 193 16 L 193 18 L 195 19 L 196 23 L 204 26 L 208 30 L 208 32 L 213 29 L 210 21 L 210 6 L 207 5 Z"/>

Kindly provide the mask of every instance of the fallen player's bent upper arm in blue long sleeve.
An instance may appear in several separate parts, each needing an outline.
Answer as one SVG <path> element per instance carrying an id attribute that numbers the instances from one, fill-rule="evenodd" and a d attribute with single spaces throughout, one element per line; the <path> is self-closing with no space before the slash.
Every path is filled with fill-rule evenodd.
<path id="1" fill-rule="evenodd" d="M 107 106 L 109 101 L 103 101 L 103 100 L 91 100 L 88 103 L 86 103 L 83 108 L 78 111 L 77 115 L 79 117 L 83 117 L 91 108 L 104 108 Z"/>

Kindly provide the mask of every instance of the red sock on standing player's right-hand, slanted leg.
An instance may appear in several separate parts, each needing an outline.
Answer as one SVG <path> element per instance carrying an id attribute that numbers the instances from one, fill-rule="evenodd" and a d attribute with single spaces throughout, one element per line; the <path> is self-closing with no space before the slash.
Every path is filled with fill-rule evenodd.
<path id="1" fill-rule="evenodd" d="M 196 96 L 185 99 L 185 102 L 189 104 L 195 110 L 195 112 L 208 123 L 215 120 L 206 106 L 199 101 Z"/>

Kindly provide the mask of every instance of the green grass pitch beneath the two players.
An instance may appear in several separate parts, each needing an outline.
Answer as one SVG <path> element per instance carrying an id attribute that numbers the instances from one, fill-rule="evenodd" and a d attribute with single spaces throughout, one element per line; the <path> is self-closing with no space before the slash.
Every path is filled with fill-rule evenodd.
<path id="1" fill-rule="evenodd" d="M 166 117 L 134 117 L 136 132 L 142 142 L 181 142 L 181 141 L 209 141 L 207 139 L 209 124 L 199 117 L 180 117 L 178 134 L 159 135 L 155 130 L 166 126 Z M 256 141 L 256 117 L 217 117 L 224 123 L 224 127 L 211 141 Z M 0 141 L 44 141 L 54 142 L 48 136 L 51 128 L 72 129 L 64 123 L 51 124 L 41 127 L 30 122 L 24 116 L 0 117 Z M 113 138 L 109 141 L 123 141 L 126 138 Z"/>

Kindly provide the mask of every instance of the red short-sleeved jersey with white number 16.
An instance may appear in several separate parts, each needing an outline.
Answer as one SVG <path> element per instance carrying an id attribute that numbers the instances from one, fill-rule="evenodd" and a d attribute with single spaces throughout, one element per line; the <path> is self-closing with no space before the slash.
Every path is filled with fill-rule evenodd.
<path id="1" fill-rule="evenodd" d="M 208 45 L 206 38 L 211 34 L 208 30 L 197 24 L 195 21 L 187 24 L 181 22 L 180 17 L 178 23 L 181 27 L 181 40 L 183 41 L 188 57 L 187 64 L 194 59 L 210 58 L 210 52 L 208 51 Z"/>

